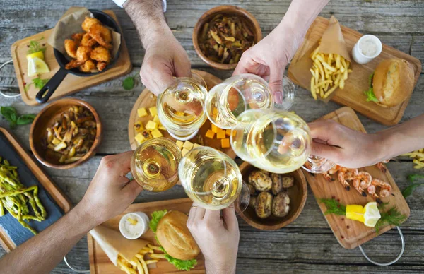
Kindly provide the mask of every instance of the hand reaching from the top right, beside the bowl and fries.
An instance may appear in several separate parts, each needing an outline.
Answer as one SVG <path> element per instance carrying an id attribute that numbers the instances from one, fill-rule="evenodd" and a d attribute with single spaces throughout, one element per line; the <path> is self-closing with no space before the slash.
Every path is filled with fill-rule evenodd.
<path id="1" fill-rule="evenodd" d="M 254 47 L 242 54 L 232 75 L 253 73 L 269 81 L 275 101 L 283 101 L 283 76 L 285 66 L 293 58 L 299 46 L 298 35 L 284 24 L 278 25 Z"/>

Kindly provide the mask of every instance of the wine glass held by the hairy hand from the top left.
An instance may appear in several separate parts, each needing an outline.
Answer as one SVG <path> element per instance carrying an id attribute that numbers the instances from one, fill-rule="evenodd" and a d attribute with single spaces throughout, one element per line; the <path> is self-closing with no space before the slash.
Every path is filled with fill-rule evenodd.
<path id="1" fill-rule="evenodd" d="M 196 136 L 206 121 L 204 103 L 208 92 L 204 85 L 204 79 L 193 74 L 192 78 L 175 78 L 158 95 L 158 117 L 170 136 L 182 141 Z"/>

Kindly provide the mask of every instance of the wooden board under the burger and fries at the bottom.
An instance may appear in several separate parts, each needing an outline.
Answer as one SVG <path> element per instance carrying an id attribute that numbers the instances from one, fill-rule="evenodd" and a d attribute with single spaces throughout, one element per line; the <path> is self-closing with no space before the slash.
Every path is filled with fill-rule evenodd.
<path id="1" fill-rule="evenodd" d="M 175 200 L 168 200 L 168 201 L 157 201 L 157 202 L 151 202 L 151 203 L 134 203 L 129 206 L 125 210 L 124 213 L 121 215 L 118 215 L 107 222 L 104 222 L 102 225 L 105 225 L 107 227 L 110 227 L 114 230 L 119 231 L 119 220 L 121 220 L 122 216 L 126 213 L 135 212 L 135 211 L 142 211 L 143 213 L 146 213 L 149 218 L 151 218 L 151 213 L 156 210 L 179 210 L 183 213 L 188 214 L 189 210 L 193 204 L 193 201 L 190 200 L 190 198 L 182 198 L 182 199 L 175 199 Z M 110 273 L 123 273 L 122 270 L 119 270 L 114 264 L 110 261 L 110 259 L 107 257 L 105 252 L 100 248 L 97 242 L 91 237 L 90 233 L 87 234 L 88 238 L 88 256 L 90 258 L 90 273 L 91 274 L 110 274 Z M 157 244 L 155 241 L 155 235 L 151 230 L 148 230 L 146 234 L 143 234 L 141 239 L 146 239 L 153 244 Z M 193 274 L 201 274 L 206 273 L 206 270 L 204 268 L 204 256 L 202 254 L 199 254 L 199 256 L 196 258 L 197 265 L 195 268 L 190 270 L 188 273 Z M 177 270 L 175 266 L 168 263 L 166 260 L 160 260 L 158 263 L 156 263 L 156 268 L 149 269 L 149 272 L 151 274 L 162 274 L 162 273 L 187 273 L 185 270 Z"/>

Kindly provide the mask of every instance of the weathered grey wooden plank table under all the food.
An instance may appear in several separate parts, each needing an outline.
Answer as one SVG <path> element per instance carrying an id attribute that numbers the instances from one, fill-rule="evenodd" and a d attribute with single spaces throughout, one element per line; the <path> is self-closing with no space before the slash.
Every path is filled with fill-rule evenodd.
<path id="1" fill-rule="evenodd" d="M 194 52 L 192 31 L 196 19 L 205 11 L 218 4 L 233 4 L 250 11 L 259 21 L 264 35 L 267 35 L 283 17 L 290 0 L 232 0 L 232 1 L 178 1 L 168 0 L 166 18 L 172 32 L 187 50 L 192 67 L 208 71 L 220 78 L 231 75 L 230 71 L 216 71 L 206 66 Z M 143 61 L 143 48 L 137 37 L 134 25 L 125 11 L 115 6 L 111 0 L 86 1 L 33 1 L 0 0 L 0 64 L 11 59 L 11 44 L 37 32 L 53 28 L 60 16 L 70 6 L 112 9 L 122 25 L 124 37 L 129 47 L 134 66 L 130 75 L 139 73 Z M 377 35 L 391 47 L 417 57 L 424 63 L 424 2 L 422 0 L 333 0 L 322 11 L 321 16 L 329 18 L 334 14 L 340 23 L 365 34 Z M 137 81 L 133 90 L 124 90 L 124 77 L 102 83 L 76 93 L 74 97 L 90 102 L 102 118 L 104 138 L 98 155 L 80 167 L 71 170 L 44 168 L 57 185 L 66 193 L 73 204 L 83 197 L 91 178 L 105 155 L 129 150 L 127 125 L 131 107 L 144 89 Z M 138 78 L 139 79 L 139 78 Z M 18 85 L 13 65 L 8 64 L 0 74 L 0 90 L 17 93 Z M 0 106 L 12 105 L 20 113 L 37 113 L 42 106 L 28 107 L 20 98 L 0 97 Z M 402 121 L 416 117 L 424 109 L 424 78 L 421 77 L 414 90 L 411 102 Z M 298 88 L 293 110 L 306 121 L 312 121 L 341 107 L 334 102 L 315 102 L 307 90 Z M 365 129 L 369 133 L 384 129 L 361 115 Z M 8 123 L 0 119 L 0 126 L 8 128 Z M 30 126 L 19 126 L 12 132 L 25 148 L 30 151 L 28 134 Z M 401 141 L 401 140 L 399 140 Z M 1 150 L 1 149 L 0 149 Z M 354 155 L 353 155 L 354 157 Z M 392 161 L 388 167 L 401 189 L 408 185 L 406 175 L 414 172 L 409 160 Z M 421 172 L 423 174 L 423 172 Z M 175 186 L 164 193 L 141 193 L 137 203 L 185 197 L 181 186 Z M 281 230 L 266 232 L 249 227 L 240 222 L 240 248 L 237 260 L 237 273 L 301 273 L 301 272 L 360 272 L 397 273 L 401 271 L 424 272 L 424 187 L 417 189 L 407 198 L 411 207 L 411 217 L 402 225 L 406 249 L 404 256 L 394 266 L 377 267 L 368 263 L 359 249 L 343 249 L 331 233 L 317 202 L 309 190 L 305 208 L 295 222 Z M 400 239 L 395 230 L 364 245 L 367 253 L 377 261 L 390 261 L 400 249 Z M 5 251 L 0 248 L 0 257 Z M 48 260 L 48 258 L 45 258 Z M 69 259 L 79 268 L 88 268 L 86 237 L 69 252 Z M 42 261 L 40 261 L 42 263 Z M 1 271 L 0 271 L 1 272 Z M 62 261 L 52 273 L 72 273 Z"/>

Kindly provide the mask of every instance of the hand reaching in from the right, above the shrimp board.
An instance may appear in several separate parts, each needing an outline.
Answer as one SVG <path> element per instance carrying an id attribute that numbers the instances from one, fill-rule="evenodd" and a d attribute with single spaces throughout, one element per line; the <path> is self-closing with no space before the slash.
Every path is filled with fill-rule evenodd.
<path id="1" fill-rule="evenodd" d="M 375 165 L 387 159 L 379 134 L 354 131 L 330 119 L 314 121 L 308 125 L 314 139 L 312 155 L 348 168 Z"/>

